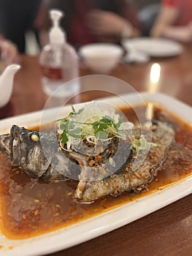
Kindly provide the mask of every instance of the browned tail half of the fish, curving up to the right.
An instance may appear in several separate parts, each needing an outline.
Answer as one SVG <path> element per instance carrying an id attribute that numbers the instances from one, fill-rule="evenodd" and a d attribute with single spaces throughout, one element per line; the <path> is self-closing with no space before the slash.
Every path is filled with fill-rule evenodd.
<path id="1" fill-rule="evenodd" d="M 139 161 L 139 156 L 133 154 L 131 161 L 120 173 L 96 181 L 83 182 L 83 189 L 80 181 L 74 193 L 75 197 L 84 202 L 92 202 L 105 195 L 118 195 L 122 192 L 138 190 L 149 184 L 157 175 L 166 150 L 174 140 L 174 129 L 168 123 L 158 122 L 157 124 L 157 129 L 152 132 L 152 141 L 157 145 L 150 146 L 144 161 Z M 141 157 L 142 151 L 140 154 Z M 137 163 L 134 166 L 135 161 Z"/>

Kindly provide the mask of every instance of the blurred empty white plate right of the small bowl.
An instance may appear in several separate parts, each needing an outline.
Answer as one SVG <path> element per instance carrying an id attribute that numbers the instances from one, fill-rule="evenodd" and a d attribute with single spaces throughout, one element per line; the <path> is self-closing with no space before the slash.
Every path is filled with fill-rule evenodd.
<path id="1" fill-rule="evenodd" d="M 142 37 L 124 39 L 122 45 L 127 50 L 132 47 L 143 53 L 147 53 L 151 57 L 177 56 L 183 51 L 183 47 L 180 43 L 163 38 Z"/>

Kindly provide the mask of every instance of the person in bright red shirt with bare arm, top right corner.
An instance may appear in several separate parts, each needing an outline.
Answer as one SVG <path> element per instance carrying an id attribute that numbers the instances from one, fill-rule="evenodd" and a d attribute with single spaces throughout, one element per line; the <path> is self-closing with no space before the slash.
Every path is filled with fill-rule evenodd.
<path id="1" fill-rule="evenodd" d="M 150 31 L 152 37 L 192 41 L 192 1 L 162 0 L 161 11 Z"/>

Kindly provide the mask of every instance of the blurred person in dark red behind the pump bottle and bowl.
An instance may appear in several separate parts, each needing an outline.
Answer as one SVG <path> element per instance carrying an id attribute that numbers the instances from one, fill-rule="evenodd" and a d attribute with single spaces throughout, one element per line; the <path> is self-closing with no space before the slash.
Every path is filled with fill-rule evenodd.
<path id="1" fill-rule="evenodd" d="M 91 42 L 120 42 L 122 37 L 139 36 L 137 13 L 131 1 L 126 0 L 50 0 L 50 9 L 64 12 L 61 26 L 66 31 L 67 41 L 78 47 Z M 50 20 L 45 22 L 45 31 Z M 42 31 L 42 45 L 47 43 Z"/>

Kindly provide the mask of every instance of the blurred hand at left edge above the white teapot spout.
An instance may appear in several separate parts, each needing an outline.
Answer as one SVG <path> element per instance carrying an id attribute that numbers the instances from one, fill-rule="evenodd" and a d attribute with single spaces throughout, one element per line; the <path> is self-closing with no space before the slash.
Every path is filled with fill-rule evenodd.
<path id="1" fill-rule="evenodd" d="M 1 59 L 3 59 L 6 64 L 12 64 L 18 62 L 18 48 L 12 42 L 0 37 L 0 50 Z"/>

